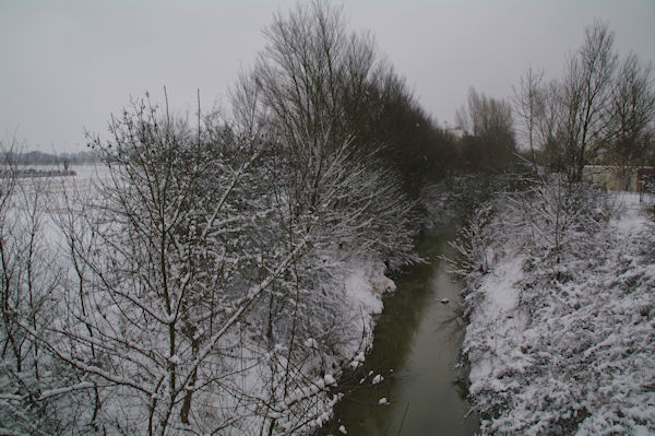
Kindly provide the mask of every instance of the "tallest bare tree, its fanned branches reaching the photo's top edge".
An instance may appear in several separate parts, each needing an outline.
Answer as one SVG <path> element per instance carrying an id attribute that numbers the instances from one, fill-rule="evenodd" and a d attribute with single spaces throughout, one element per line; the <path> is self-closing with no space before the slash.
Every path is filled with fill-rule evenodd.
<path id="1" fill-rule="evenodd" d="M 370 36 L 349 33 L 341 10 L 321 0 L 276 15 L 264 35 L 269 45 L 235 90 L 236 107 L 241 115 L 257 110 L 266 137 L 287 155 L 295 207 L 312 210 L 329 156 L 354 133 L 346 104 L 361 103 L 376 47 Z"/>

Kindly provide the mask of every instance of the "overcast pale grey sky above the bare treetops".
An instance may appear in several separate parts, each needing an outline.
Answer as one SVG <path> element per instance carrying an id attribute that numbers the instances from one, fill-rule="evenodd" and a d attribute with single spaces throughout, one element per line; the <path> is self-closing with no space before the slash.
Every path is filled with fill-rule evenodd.
<path id="1" fill-rule="evenodd" d="M 84 150 L 110 113 L 150 91 L 194 110 L 227 108 L 227 89 L 263 49 L 287 0 L 0 0 L 0 137 L 29 150 Z M 471 86 L 508 97 L 528 64 L 560 76 L 599 19 L 615 47 L 655 63 L 655 0 L 346 0 L 349 27 L 371 31 L 426 110 L 452 122 Z"/>

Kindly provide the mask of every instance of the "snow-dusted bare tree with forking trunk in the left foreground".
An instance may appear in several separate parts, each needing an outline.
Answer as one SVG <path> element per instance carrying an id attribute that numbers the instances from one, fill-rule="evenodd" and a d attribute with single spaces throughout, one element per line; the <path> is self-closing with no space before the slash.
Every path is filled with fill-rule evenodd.
<path id="1" fill-rule="evenodd" d="M 64 228 L 76 291 L 46 331 L 93 384 L 94 424 L 108 432 L 210 432 L 241 417 L 206 405 L 238 401 L 225 386 L 239 372 L 238 321 L 303 249 L 262 236 L 275 205 L 245 182 L 257 151 L 214 133 L 142 101 L 93 141 L 109 176 Z"/>

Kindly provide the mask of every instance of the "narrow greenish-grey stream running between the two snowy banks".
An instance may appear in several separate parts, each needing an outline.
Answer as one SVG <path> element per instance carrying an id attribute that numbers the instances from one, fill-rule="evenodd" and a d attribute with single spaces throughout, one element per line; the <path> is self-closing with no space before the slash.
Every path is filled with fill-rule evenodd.
<path id="1" fill-rule="evenodd" d="M 424 236 L 420 255 L 427 264 L 395 279 L 397 291 L 385 297 L 374 331 L 373 349 L 356 378 L 361 387 L 346 394 L 327 434 L 473 435 L 477 419 L 465 417 L 468 403 L 455 384 L 454 368 L 464 323 L 455 314 L 461 286 L 439 259 L 449 252 L 451 231 Z M 448 304 L 442 303 L 448 298 Z M 383 377 L 372 384 L 376 375 Z M 355 381 L 355 380 L 354 380 Z M 359 380 L 355 381 L 357 384 Z M 388 404 L 380 404 L 380 399 Z"/>

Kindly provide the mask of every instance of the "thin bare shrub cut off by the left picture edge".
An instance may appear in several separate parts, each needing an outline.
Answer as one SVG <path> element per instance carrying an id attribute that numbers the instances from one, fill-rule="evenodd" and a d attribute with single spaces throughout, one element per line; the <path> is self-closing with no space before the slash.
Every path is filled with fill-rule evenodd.
<path id="1" fill-rule="evenodd" d="M 0 433 L 70 433 L 79 416 L 58 413 L 71 377 L 28 330 L 57 322 L 60 266 L 48 246 L 47 181 L 16 165 L 14 138 L 0 140 Z M 51 339 L 51 337 L 47 337 Z"/>

